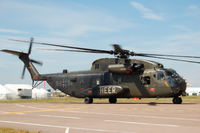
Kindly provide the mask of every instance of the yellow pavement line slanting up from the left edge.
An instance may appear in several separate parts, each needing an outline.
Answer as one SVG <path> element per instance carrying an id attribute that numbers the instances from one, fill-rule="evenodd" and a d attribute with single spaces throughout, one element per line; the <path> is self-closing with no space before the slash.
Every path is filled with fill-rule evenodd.
<path id="1" fill-rule="evenodd" d="M 6 112 L 0 113 L 0 115 L 9 115 L 9 114 L 19 114 L 19 113 L 33 113 L 33 112 L 48 112 L 48 111 L 61 111 L 61 110 L 73 110 L 81 108 L 63 108 L 63 109 L 47 109 L 47 110 L 34 110 L 34 111 L 22 111 L 22 112 Z"/>

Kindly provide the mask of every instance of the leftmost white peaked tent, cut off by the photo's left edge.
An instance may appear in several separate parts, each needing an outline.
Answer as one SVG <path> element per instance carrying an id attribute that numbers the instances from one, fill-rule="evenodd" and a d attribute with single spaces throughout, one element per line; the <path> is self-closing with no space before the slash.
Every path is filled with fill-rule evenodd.
<path id="1" fill-rule="evenodd" d="M 5 99 L 5 100 L 16 99 L 16 98 L 18 97 L 16 96 L 16 93 L 13 90 L 6 88 L 5 86 L 0 84 L 0 99 L 1 100 L 2 99 Z"/>

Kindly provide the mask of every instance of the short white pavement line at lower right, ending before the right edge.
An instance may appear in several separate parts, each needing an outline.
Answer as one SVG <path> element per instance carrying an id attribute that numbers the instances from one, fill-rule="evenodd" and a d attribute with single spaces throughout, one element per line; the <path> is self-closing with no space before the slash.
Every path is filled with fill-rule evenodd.
<path id="1" fill-rule="evenodd" d="M 105 120 L 105 121 L 106 121 L 106 122 L 114 122 L 114 123 L 124 123 L 124 124 L 147 125 L 147 126 L 179 127 L 179 125 L 167 125 L 167 124 L 153 124 L 153 123 L 128 122 L 128 121 L 115 121 L 115 120 Z"/>

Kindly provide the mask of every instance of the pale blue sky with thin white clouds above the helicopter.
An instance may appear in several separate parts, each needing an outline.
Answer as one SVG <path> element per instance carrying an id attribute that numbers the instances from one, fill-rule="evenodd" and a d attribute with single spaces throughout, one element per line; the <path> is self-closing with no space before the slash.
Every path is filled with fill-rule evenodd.
<path id="1" fill-rule="evenodd" d="M 200 56 L 199 0 L 0 0 L 0 49 L 28 51 L 19 39 L 94 49 L 113 50 L 112 44 L 138 53 Z M 39 73 L 89 70 L 94 60 L 111 55 L 40 51 Z M 175 69 L 193 86 L 200 86 L 200 64 L 154 60 Z M 196 60 L 196 61 L 200 61 Z M 31 83 L 23 63 L 0 52 L 0 84 Z"/>

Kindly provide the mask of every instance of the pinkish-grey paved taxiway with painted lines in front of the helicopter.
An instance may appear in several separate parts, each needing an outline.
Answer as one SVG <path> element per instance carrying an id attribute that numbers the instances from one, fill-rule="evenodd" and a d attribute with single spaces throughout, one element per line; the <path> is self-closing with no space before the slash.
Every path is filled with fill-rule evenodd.
<path id="1" fill-rule="evenodd" d="M 200 103 L 2 103 L 0 127 L 41 133 L 200 132 Z"/>

